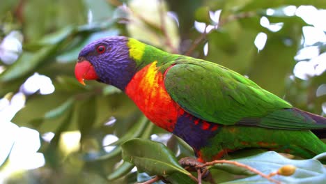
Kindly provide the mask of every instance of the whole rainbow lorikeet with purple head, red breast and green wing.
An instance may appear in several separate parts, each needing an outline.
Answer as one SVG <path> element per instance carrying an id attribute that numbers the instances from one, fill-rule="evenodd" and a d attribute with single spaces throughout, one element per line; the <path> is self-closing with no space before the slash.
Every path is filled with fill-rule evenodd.
<path id="1" fill-rule="evenodd" d="M 75 76 L 126 93 L 160 128 L 182 138 L 202 162 L 242 148 L 312 158 L 326 152 L 326 118 L 294 108 L 216 63 L 170 54 L 133 38 L 96 40 L 79 53 Z"/>

